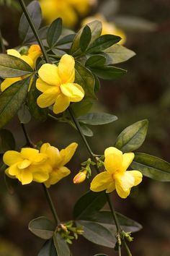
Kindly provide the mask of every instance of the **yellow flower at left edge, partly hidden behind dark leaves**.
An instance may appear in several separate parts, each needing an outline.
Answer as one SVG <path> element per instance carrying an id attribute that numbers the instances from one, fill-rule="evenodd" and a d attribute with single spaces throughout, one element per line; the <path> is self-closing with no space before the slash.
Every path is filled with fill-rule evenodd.
<path id="1" fill-rule="evenodd" d="M 7 54 L 15 56 L 19 59 L 22 59 L 23 61 L 27 62 L 27 64 L 29 64 L 30 67 L 32 67 L 32 69 L 34 69 L 37 58 L 41 55 L 41 50 L 40 50 L 40 46 L 32 45 L 32 46 L 30 46 L 27 55 L 21 55 L 15 49 L 7 50 Z M 24 79 L 24 77 L 6 78 L 3 82 L 1 82 L 1 92 L 3 92 L 6 88 L 9 88 L 9 86 L 14 84 L 14 82 Z M 30 86 L 31 86 L 31 82 L 30 82 Z M 30 88 L 29 88 L 29 90 L 30 90 Z"/>

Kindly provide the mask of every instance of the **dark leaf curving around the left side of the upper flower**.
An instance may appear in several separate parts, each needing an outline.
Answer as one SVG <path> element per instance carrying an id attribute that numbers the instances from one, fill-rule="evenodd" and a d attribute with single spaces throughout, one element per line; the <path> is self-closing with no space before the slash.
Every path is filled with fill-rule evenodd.
<path id="1" fill-rule="evenodd" d="M 30 113 L 37 121 L 45 121 L 48 118 L 48 108 L 37 106 L 37 97 L 41 94 L 36 88 L 36 79 L 34 77 L 30 92 L 28 93 L 28 107 Z"/>

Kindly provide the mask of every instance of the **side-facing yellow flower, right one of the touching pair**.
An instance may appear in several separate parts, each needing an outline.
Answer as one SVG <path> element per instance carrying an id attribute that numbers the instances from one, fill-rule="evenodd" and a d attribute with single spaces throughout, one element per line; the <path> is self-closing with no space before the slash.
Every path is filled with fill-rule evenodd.
<path id="1" fill-rule="evenodd" d="M 59 151 L 58 148 L 51 146 L 49 143 L 44 143 L 41 146 L 40 153 L 48 156 L 48 163 L 52 168 L 49 174 L 49 179 L 45 181 L 46 187 L 50 187 L 50 185 L 59 182 L 70 174 L 71 171 L 65 165 L 71 160 L 77 146 L 77 143 L 73 142 L 61 151 Z"/>

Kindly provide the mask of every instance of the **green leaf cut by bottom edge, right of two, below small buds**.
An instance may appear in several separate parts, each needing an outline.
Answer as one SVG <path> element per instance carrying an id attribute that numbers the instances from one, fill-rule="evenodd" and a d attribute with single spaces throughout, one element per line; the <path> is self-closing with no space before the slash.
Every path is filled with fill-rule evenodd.
<path id="1" fill-rule="evenodd" d="M 61 235 L 58 234 L 58 232 L 56 232 L 56 231 L 53 236 L 53 241 L 54 241 L 55 249 L 57 251 L 58 256 L 66 256 L 66 255 L 69 256 L 70 255 L 70 249 L 68 247 L 68 244 L 63 239 L 63 237 L 61 237 Z"/>

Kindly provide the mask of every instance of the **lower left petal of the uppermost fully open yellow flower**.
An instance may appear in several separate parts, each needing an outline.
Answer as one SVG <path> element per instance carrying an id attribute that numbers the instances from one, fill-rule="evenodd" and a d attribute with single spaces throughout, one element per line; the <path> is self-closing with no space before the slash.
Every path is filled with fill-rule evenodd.
<path id="1" fill-rule="evenodd" d="M 40 106 L 40 108 L 47 108 L 48 106 L 53 105 L 56 101 L 58 90 L 58 87 L 45 90 L 45 92 L 37 98 L 37 105 Z"/>

